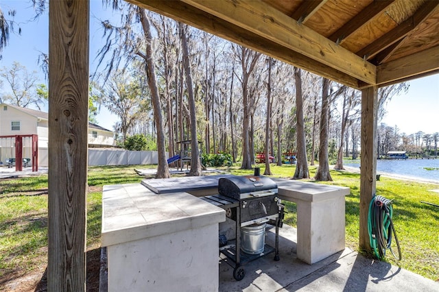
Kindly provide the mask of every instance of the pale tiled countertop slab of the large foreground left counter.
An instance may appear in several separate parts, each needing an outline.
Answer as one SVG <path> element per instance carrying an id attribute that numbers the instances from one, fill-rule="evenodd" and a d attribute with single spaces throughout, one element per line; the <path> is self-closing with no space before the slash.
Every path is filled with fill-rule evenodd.
<path id="1" fill-rule="evenodd" d="M 158 195 L 141 184 L 104 186 L 102 193 L 102 246 L 225 220 L 222 208 L 188 193 Z"/>

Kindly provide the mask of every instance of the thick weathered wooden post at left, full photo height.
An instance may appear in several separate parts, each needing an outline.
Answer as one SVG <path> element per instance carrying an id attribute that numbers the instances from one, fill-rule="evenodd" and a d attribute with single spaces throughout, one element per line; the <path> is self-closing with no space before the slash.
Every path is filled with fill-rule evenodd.
<path id="1" fill-rule="evenodd" d="M 89 4 L 49 2 L 49 291 L 86 290 Z"/>

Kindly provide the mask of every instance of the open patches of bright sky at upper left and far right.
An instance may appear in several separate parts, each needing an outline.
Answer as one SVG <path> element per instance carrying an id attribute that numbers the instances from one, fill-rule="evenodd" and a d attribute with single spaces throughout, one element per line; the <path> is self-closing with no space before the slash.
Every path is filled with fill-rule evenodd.
<path id="1" fill-rule="evenodd" d="M 46 83 L 43 72 L 38 65 L 40 51 L 48 52 L 48 17 L 43 15 L 38 21 L 25 22 L 32 19 L 34 11 L 27 0 L 3 1 L 0 0 L 3 12 L 10 8 L 17 10 L 15 20 L 21 22 L 21 35 L 11 34 L 8 47 L 3 49 L 3 59 L 0 66 L 10 66 L 16 61 L 26 66 L 28 71 L 37 71 L 41 83 Z M 97 51 L 102 45 L 102 29 L 99 26 L 99 18 L 107 19 L 111 12 L 102 8 L 102 0 L 91 0 L 90 17 L 90 71 L 93 72 L 97 65 L 94 60 Z M 18 31 L 18 27 L 16 26 Z M 388 114 L 383 123 L 394 127 L 397 125 L 400 132 L 412 134 L 423 131 L 426 133 L 439 132 L 439 74 L 423 77 L 410 82 L 407 94 L 394 96 L 386 105 Z M 45 109 L 47 110 L 47 108 Z M 97 116 L 97 121 L 102 127 L 112 129 L 115 116 L 105 109 Z"/>

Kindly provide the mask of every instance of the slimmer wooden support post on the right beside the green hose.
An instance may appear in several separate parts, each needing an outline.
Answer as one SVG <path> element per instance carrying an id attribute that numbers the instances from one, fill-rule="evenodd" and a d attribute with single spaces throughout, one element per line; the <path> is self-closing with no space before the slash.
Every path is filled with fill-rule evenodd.
<path id="1" fill-rule="evenodd" d="M 361 181 L 359 195 L 359 248 L 370 252 L 368 208 L 376 191 L 378 88 L 361 90 Z"/>

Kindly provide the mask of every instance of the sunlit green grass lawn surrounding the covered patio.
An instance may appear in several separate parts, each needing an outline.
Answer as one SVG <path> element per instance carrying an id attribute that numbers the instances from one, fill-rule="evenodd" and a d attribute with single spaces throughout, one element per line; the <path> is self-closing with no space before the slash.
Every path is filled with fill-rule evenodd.
<path id="1" fill-rule="evenodd" d="M 261 167 L 261 174 L 264 165 Z M 90 167 L 87 195 L 87 250 L 100 246 L 102 186 L 140 182 L 143 177 L 134 168 L 154 166 Z M 271 165 L 274 177 L 292 178 L 294 165 Z M 224 167 L 237 175 L 253 173 L 239 166 Z M 311 177 L 316 167 L 309 167 Z M 321 182 L 351 188 L 346 196 L 346 245 L 358 249 L 359 174 L 331 171 L 333 182 Z M 312 181 L 312 180 L 310 180 Z M 439 280 L 439 194 L 431 192 L 439 185 L 385 178 L 377 182 L 377 193 L 393 202 L 393 221 L 401 243 L 403 260 L 399 263 L 388 252 L 385 260 L 432 280 Z M 19 277 L 47 266 L 47 175 L 0 182 L 0 287 L 11 277 Z M 33 192 L 30 192 L 33 191 Z M 43 194 L 41 194 L 43 193 Z M 296 205 L 287 202 L 285 223 L 296 226 Z M 1 290 L 1 289 L 0 289 Z"/>

